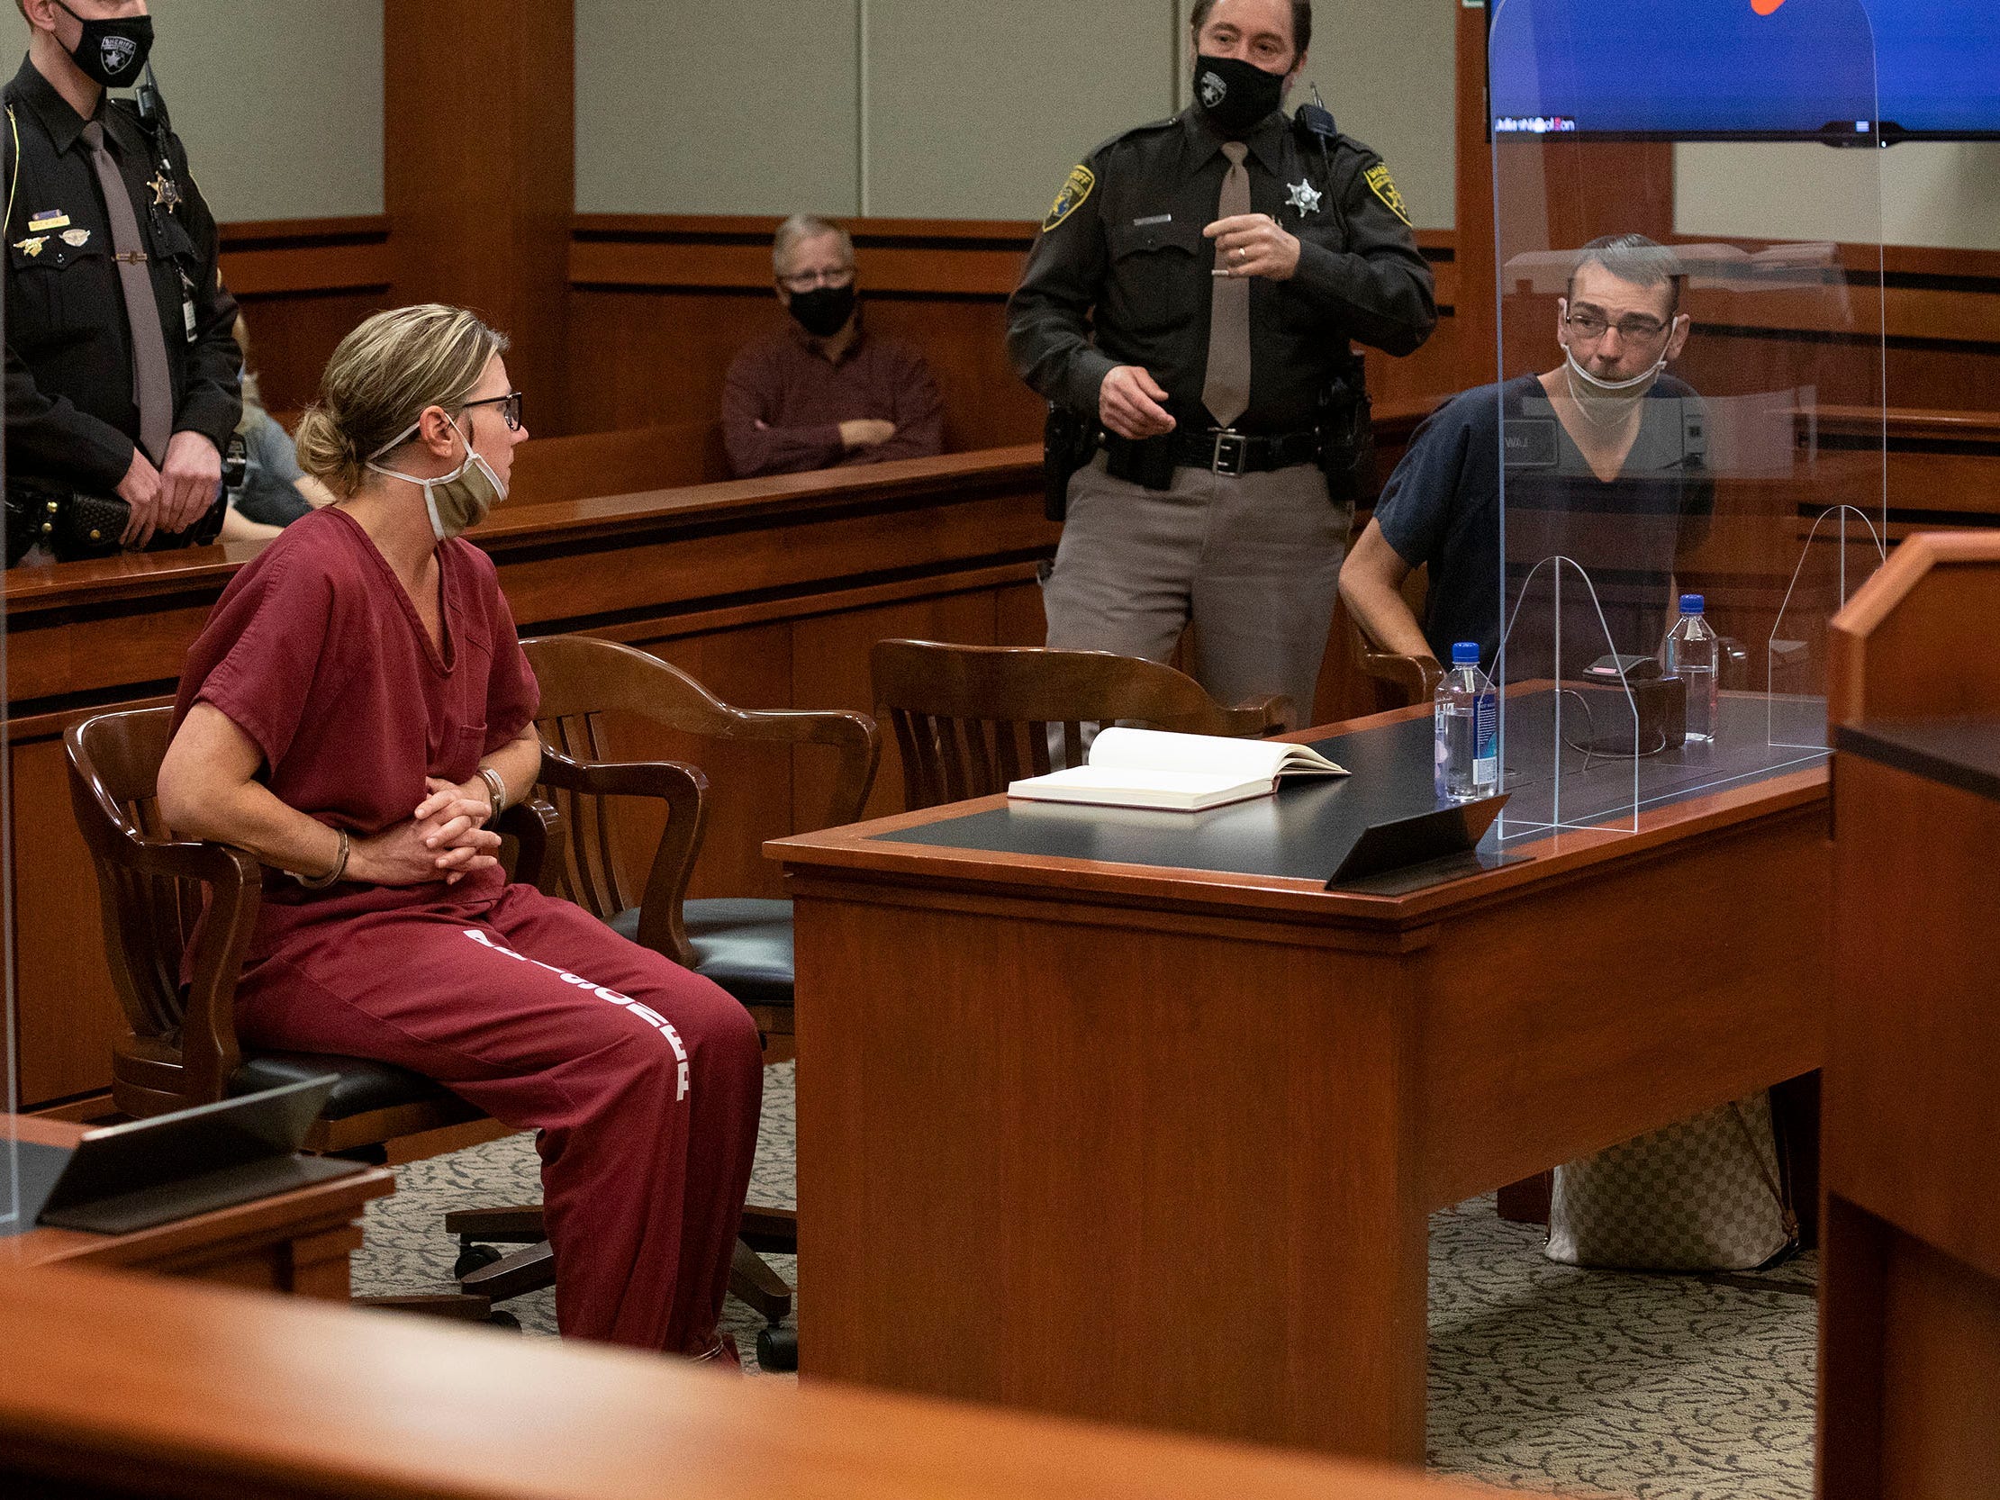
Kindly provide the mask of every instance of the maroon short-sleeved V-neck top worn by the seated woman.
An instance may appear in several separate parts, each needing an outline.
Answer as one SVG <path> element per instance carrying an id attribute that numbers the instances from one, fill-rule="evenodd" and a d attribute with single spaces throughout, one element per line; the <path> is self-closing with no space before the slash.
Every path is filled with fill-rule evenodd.
<path id="1" fill-rule="evenodd" d="M 452 538 L 438 572 L 442 652 L 360 522 L 332 506 L 292 522 L 236 574 L 188 650 L 174 726 L 214 704 L 264 752 L 258 778 L 280 802 L 360 836 L 402 822 L 426 776 L 472 780 L 540 702 L 492 558 Z M 448 890 L 480 910 L 504 884 L 490 868 Z M 436 904 L 446 888 L 264 890 L 252 960 L 304 922 Z"/>

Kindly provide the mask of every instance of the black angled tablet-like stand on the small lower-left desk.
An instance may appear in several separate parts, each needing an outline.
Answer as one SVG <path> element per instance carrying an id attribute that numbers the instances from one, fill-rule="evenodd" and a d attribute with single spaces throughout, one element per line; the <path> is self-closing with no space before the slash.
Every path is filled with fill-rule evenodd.
<path id="1" fill-rule="evenodd" d="M 366 1172 L 358 1162 L 298 1156 L 332 1088 L 332 1076 L 308 1078 L 90 1130 L 70 1148 L 22 1142 L 22 1202 L 12 1232 L 48 1224 L 132 1234 Z"/>

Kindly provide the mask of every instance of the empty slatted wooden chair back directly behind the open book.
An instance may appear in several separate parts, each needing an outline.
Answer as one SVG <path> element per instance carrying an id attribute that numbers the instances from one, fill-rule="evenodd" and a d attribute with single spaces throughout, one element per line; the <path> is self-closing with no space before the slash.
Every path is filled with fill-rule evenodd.
<path id="1" fill-rule="evenodd" d="M 1004 792 L 1084 760 L 1086 726 L 1142 724 L 1178 734 L 1256 738 L 1284 730 L 1290 700 L 1224 708 L 1160 662 L 1040 646 L 880 640 L 870 652 L 876 714 L 902 752 L 912 812 Z"/>

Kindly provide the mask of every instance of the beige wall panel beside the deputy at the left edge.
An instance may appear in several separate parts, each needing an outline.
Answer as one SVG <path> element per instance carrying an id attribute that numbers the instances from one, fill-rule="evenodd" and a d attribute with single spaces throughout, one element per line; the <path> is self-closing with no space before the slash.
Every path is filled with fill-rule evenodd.
<path id="1" fill-rule="evenodd" d="M 152 14 L 160 94 L 218 220 L 382 212 L 382 0 L 152 0 Z M 476 84 L 448 58 L 438 80 Z"/>

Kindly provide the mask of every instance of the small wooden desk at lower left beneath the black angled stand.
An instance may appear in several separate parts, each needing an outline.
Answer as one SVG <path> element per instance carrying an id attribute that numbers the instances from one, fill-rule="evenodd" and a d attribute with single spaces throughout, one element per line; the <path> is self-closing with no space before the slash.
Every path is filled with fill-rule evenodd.
<path id="1" fill-rule="evenodd" d="M 8 1134 L 74 1146 L 84 1130 L 60 1120 L 0 1116 L 0 1152 Z M 368 1168 L 134 1234 L 38 1228 L 0 1240 L 0 1268 L 10 1276 L 32 1266 L 146 1270 L 344 1302 L 348 1256 L 362 1248 L 362 1204 L 392 1192 L 396 1176 Z"/>

